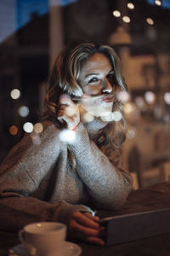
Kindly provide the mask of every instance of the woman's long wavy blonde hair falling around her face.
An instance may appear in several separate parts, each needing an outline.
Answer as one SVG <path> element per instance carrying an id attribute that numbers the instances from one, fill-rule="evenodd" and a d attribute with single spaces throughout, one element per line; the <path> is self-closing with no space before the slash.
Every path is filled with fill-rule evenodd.
<path id="1" fill-rule="evenodd" d="M 122 78 L 120 61 L 114 49 L 107 45 L 86 41 L 70 44 L 57 57 L 48 79 L 48 92 L 45 100 L 46 114 L 56 126 L 59 127 L 56 114 L 59 108 L 59 96 L 67 93 L 74 99 L 74 102 L 80 101 L 83 92 L 78 81 L 82 65 L 96 53 L 105 55 L 111 63 L 115 73 L 115 80 L 112 83 L 114 92 L 127 90 L 127 85 Z M 122 113 L 122 103 L 118 100 L 113 103 L 113 111 L 116 110 Z M 94 142 L 104 152 L 109 151 L 110 148 L 120 148 L 125 140 L 125 127 L 126 122 L 123 117 L 118 122 L 112 121 L 93 138 Z"/>

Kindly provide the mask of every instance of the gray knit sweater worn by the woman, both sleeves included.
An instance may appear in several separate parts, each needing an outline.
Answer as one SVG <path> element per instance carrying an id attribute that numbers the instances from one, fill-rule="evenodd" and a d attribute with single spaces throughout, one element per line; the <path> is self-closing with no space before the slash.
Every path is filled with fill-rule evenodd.
<path id="1" fill-rule="evenodd" d="M 37 221 L 68 224 L 72 212 L 91 211 L 84 206 L 89 201 L 94 209 L 121 207 L 132 179 L 114 151 L 109 160 L 89 138 L 105 125 L 96 120 L 78 125 L 71 144 L 76 172 L 53 123 L 43 123 L 40 143 L 23 137 L 0 167 L 0 230 L 17 231 Z"/>

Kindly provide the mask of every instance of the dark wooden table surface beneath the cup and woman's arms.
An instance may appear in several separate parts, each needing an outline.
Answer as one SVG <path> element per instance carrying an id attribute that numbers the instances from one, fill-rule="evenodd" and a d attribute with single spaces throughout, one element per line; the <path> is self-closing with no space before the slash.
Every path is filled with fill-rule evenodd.
<path id="1" fill-rule="evenodd" d="M 132 212 L 144 212 L 170 207 L 170 183 L 159 183 L 133 191 L 120 211 L 99 211 L 99 216 L 108 217 Z M 170 255 L 170 233 L 150 236 L 136 241 L 124 242 L 110 247 L 100 247 L 74 241 L 82 247 L 82 256 L 168 256 Z M 8 249 L 19 244 L 16 234 L 0 232 L 0 255 L 8 255 Z"/>

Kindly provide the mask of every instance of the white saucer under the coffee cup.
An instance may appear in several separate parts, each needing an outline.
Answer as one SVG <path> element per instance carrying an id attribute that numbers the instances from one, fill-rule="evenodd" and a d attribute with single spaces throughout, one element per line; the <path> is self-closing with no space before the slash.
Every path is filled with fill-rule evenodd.
<path id="1" fill-rule="evenodd" d="M 65 256 L 79 256 L 82 253 L 82 248 L 70 241 L 65 241 L 63 250 Z M 31 254 L 25 245 L 19 244 L 9 249 L 8 256 L 31 256 Z"/>

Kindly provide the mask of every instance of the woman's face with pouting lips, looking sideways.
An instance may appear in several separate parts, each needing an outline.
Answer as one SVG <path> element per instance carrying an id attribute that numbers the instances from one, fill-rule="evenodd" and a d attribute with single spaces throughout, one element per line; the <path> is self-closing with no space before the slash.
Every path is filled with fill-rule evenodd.
<path id="1" fill-rule="evenodd" d="M 111 112 L 114 70 L 105 55 L 96 53 L 82 65 L 79 84 L 82 87 L 82 108 L 96 117 Z"/>

